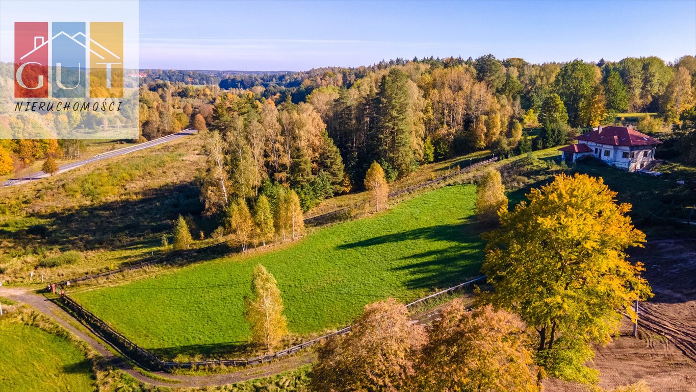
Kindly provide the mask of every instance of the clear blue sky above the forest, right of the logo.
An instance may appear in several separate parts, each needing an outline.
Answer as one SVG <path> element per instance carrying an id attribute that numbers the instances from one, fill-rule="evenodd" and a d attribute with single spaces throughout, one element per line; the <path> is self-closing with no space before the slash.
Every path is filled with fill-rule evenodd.
<path id="1" fill-rule="evenodd" d="M 163 2 L 141 68 L 307 70 L 492 53 L 530 62 L 696 52 L 696 1 Z"/>

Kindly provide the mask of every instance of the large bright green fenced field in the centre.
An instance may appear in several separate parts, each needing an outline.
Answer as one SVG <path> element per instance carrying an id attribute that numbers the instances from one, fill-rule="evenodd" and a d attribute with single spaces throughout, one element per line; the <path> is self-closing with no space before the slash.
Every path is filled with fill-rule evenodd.
<path id="1" fill-rule="evenodd" d="M 345 326 L 378 299 L 406 302 L 477 276 L 482 242 L 472 223 L 474 201 L 473 185 L 444 187 L 376 217 L 319 229 L 282 249 L 73 297 L 165 357 L 239 352 L 249 334 L 244 296 L 258 263 L 278 280 L 290 331 L 297 335 Z"/>

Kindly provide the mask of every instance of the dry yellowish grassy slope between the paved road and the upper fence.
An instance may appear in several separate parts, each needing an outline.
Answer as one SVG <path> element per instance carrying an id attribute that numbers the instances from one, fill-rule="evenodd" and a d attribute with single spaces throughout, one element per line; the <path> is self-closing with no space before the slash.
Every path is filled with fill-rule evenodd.
<path id="1" fill-rule="evenodd" d="M 0 274 L 26 279 L 40 260 L 70 249 L 85 251 L 85 260 L 35 269 L 36 276 L 58 280 L 159 251 L 171 220 L 200 210 L 199 150 L 198 136 L 187 136 L 0 189 Z M 35 225 L 45 229 L 32 231 Z"/>

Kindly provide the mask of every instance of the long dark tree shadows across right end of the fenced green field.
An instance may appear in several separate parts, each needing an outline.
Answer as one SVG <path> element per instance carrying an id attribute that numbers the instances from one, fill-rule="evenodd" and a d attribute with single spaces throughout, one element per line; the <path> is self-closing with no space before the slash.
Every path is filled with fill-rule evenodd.
<path id="1" fill-rule="evenodd" d="M 337 249 L 354 249 L 393 242 L 413 240 L 449 241 L 445 249 L 425 250 L 413 253 L 402 260 L 413 263 L 395 267 L 395 271 L 407 271 L 412 278 L 406 281 L 409 289 L 445 288 L 476 276 L 483 260 L 484 242 L 480 238 L 481 226 L 475 217 L 459 219 L 458 224 L 446 224 L 406 230 L 372 237 L 367 240 L 342 244 Z M 416 260 L 419 260 L 416 262 Z"/>

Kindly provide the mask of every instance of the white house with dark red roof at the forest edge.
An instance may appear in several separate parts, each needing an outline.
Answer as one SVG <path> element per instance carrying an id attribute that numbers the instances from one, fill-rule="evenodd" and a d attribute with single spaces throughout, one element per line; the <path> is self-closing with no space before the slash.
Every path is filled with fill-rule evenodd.
<path id="1" fill-rule="evenodd" d="M 655 148 L 661 141 L 631 127 L 599 127 L 573 139 L 578 143 L 559 148 L 566 162 L 585 156 L 596 157 L 610 166 L 635 171 L 655 159 Z"/>

